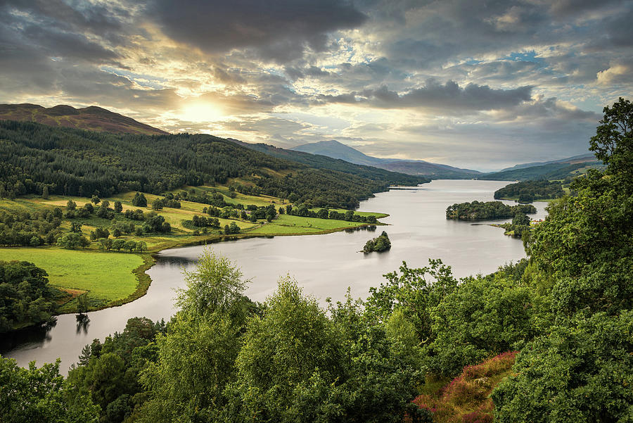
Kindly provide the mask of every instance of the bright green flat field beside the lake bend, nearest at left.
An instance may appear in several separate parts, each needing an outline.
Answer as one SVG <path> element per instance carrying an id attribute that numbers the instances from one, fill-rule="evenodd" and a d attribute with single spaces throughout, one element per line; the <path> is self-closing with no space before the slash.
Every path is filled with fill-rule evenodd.
<path id="1" fill-rule="evenodd" d="M 0 260 L 34 263 L 49 283 L 73 295 L 87 292 L 92 305 L 104 306 L 132 296 L 139 284 L 133 273 L 143 265 L 139 254 L 98 253 L 56 247 L 0 248 Z"/>

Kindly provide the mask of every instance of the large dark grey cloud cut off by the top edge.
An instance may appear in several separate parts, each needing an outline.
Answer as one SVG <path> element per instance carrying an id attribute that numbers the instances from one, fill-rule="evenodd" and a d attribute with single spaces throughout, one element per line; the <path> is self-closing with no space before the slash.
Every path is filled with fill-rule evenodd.
<path id="1" fill-rule="evenodd" d="M 210 53 L 252 48 L 280 63 L 300 57 L 307 46 L 323 51 L 328 32 L 365 21 L 343 0 L 156 0 L 150 10 L 179 42 Z"/>

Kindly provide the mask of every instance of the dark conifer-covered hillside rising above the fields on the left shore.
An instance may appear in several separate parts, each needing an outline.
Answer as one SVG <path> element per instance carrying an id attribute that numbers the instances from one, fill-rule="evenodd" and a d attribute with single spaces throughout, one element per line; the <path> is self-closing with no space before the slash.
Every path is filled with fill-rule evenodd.
<path id="1" fill-rule="evenodd" d="M 272 177 L 270 171 L 289 172 Z M 354 208 L 390 184 L 428 182 L 368 179 L 319 170 L 205 134 L 116 135 L 33 122 L 0 122 L 0 196 L 49 194 L 111 196 L 121 191 L 160 194 L 184 185 L 252 179 L 262 194 L 300 196 L 312 206 Z M 371 175 L 366 175 L 371 177 Z M 402 178 L 406 180 L 401 180 Z"/>

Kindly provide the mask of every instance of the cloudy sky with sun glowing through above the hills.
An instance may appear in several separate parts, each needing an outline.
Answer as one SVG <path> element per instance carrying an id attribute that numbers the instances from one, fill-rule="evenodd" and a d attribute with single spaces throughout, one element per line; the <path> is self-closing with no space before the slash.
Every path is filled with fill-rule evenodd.
<path id="1" fill-rule="evenodd" d="M 633 1 L 0 0 L 0 103 L 495 170 L 589 153 Z"/>

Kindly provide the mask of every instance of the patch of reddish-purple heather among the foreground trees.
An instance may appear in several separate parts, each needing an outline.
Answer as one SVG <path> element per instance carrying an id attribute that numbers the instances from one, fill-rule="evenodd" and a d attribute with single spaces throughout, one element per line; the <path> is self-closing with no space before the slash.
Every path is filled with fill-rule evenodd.
<path id="1" fill-rule="evenodd" d="M 466 366 L 450 381 L 430 379 L 414 403 L 433 414 L 436 423 L 492 422 L 490 393 L 511 374 L 518 351 L 509 351 L 484 362 Z"/>

